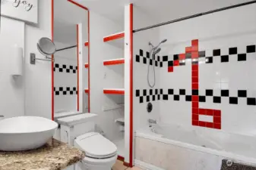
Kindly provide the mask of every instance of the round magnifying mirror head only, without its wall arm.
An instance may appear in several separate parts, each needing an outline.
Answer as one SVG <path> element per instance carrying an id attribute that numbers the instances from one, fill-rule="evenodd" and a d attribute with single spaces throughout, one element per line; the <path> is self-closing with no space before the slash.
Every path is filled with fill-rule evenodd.
<path id="1" fill-rule="evenodd" d="M 43 37 L 37 43 L 37 48 L 41 54 L 44 55 L 52 55 L 56 51 L 55 44 L 52 42 L 51 39 Z"/>

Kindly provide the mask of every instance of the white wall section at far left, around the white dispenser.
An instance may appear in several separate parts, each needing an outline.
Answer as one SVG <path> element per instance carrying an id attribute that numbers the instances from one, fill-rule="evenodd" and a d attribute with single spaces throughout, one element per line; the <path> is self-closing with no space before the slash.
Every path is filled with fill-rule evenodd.
<path id="1" fill-rule="evenodd" d="M 11 76 L 12 51 L 14 46 L 24 50 L 24 29 L 24 22 L 1 17 L 0 115 L 5 118 L 24 116 L 24 73 L 17 79 Z"/>

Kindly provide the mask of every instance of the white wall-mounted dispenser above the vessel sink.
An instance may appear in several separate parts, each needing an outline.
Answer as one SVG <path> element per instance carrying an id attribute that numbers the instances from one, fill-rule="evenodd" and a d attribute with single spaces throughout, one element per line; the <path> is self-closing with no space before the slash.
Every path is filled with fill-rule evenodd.
<path id="1" fill-rule="evenodd" d="M 23 49 L 14 47 L 11 52 L 11 75 L 22 76 L 23 68 Z"/>

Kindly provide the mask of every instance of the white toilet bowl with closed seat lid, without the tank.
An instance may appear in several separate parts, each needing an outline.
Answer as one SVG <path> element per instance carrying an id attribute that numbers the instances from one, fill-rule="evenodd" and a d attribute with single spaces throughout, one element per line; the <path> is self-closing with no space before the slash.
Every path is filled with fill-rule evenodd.
<path id="1" fill-rule="evenodd" d="M 117 147 L 103 135 L 90 132 L 74 140 L 74 147 L 83 150 L 84 159 L 77 165 L 77 170 L 110 170 L 117 159 Z"/>

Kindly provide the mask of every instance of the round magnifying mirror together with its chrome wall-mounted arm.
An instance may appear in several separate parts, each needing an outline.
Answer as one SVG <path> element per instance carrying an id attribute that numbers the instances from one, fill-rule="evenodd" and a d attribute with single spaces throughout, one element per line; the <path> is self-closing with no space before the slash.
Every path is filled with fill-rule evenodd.
<path id="1" fill-rule="evenodd" d="M 46 37 L 41 38 L 37 42 L 37 49 L 38 49 L 38 51 L 40 51 L 41 54 L 46 56 L 46 59 L 36 58 L 36 54 L 31 53 L 30 54 L 30 63 L 31 64 L 36 64 L 36 60 L 48 60 L 48 61 L 53 61 L 54 62 L 54 58 L 49 57 L 49 56 L 52 55 L 52 54 L 55 54 L 57 49 L 55 47 L 54 42 L 52 42 L 51 39 L 48 39 Z"/>

